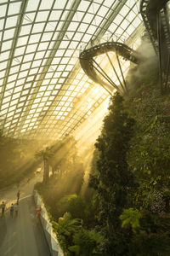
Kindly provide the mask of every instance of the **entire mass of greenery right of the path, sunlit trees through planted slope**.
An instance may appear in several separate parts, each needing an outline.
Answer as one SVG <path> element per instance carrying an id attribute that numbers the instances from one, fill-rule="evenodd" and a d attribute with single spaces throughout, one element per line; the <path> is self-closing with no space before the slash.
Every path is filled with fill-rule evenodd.
<path id="1" fill-rule="evenodd" d="M 75 140 L 55 145 L 41 189 L 65 255 L 170 255 L 170 96 L 155 65 L 128 81 L 128 95 L 111 99 L 84 195 Z"/>

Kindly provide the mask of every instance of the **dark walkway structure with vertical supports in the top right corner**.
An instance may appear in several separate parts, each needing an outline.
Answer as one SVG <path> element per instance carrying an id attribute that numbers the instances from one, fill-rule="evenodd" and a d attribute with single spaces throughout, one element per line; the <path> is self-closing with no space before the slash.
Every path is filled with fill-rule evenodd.
<path id="1" fill-rule="evenodd" d="M 170 29 L 167 15 L 169 0 L 142 0 L 140 13 L 150 41 L 159 57 L 161 93 L 167 90 L 170 68 Z"/>

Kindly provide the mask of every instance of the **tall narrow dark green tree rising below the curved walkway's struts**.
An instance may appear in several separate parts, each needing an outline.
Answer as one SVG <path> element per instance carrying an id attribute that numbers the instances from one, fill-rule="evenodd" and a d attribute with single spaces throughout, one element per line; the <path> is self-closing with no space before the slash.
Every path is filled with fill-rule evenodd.
<path id="1" fill-rule="evenodd" d="M 105 233 L 103 253 L 108 255 L 126 252 L 127 244 L 119 216 L 127 204 L 127 194 L 134 186 L 133 173 L 127 166 L 134 119 L 128 117 L 122 102 L 119 94 L 113 97 L 110 113 L 95 144 L 99 150 L 97 173 L 92 172 L 89 179 L 89 185 L 99 195 L 99 229 Z"/>

